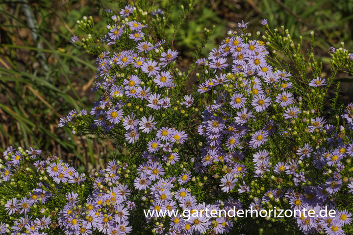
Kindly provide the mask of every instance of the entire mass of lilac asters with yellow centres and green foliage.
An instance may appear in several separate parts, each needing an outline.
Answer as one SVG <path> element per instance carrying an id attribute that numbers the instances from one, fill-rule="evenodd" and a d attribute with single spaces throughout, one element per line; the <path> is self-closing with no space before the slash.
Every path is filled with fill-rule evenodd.
<path id="1" fill-rule="evenodd" d="M 101 97 L 89 114 L 73 110 L 59 123 L 115 141 L 107 167 L 88 176 L 39 150 L 9 147 L 0 234 L 352 234 L 353 104 L 343 108 L 339 84 L 323 117 L 335 74 L 353 71 L 344 45 L 329 49 L 323 79 L 313 45 L 305 58 L 284 28 L 264 20 L 260 39 L 242 22 L 207 59 L 206 29 L 196 64 L 180 72 L 174 36 L 163 34 L 170 6 L 137 8 L 103 13 L 103 51 L 93 21 L 79 23 L 90 33 L 82 46 L 98 54 L 92 91 Z M 199 84 L 190 92 L 193 74 Z"/>

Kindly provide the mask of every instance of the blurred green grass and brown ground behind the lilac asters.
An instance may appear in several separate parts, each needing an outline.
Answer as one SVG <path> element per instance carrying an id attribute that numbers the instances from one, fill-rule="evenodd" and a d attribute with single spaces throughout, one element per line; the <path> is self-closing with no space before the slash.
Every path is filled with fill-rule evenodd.
<path id="1" fill-rule="evenodd" d="M 163 9 L 169 2 L 156 0 L 153 8 Z M 187 0 L 174 0 L 170 17 L 176 26 L 186 4 Z M 0 151 L 9 145 L 35 146 L 74 161 L 82 171 L 98 170 L 107 162 L 114 151 L 108 141 L 77 138 L 57 124 L 68 110 L 90 110 L 97 99 L 90 92 L 96 58 L 70 38 L 87 37 L 76 24 L 83 16 L 92 16 L 96 25 L 105 27 L 99 9 L 108 7 L 120 12 L 114 2 L 109 6 L 98 0 L 0 1 Z M 182 70 L 194 61 L 190 51 L 204 36 L 204 28 L 216 25 L 202 51 L 207 57 L 242 20 L 250 22 L 253 33 L 264 31 L 262 19 L 268 19 L 270 27 L 284 25 L 294 42 L 303 36 L 303 52 L 314 31 L 314 52 L 316 60 L 324 63 L 323 78 L 330 69 L 328 47 L 345 42 L 345 48 L 353 48 L 353 0 L 197 0 L 174 40 L 173 49 L 180 55 L 177 66 Z M 166 33 L 173 31 L 171 25 L 166 28 Z M 341 73 L 337 78 L 344 103 L 352 102 L 351 76 Z"/>

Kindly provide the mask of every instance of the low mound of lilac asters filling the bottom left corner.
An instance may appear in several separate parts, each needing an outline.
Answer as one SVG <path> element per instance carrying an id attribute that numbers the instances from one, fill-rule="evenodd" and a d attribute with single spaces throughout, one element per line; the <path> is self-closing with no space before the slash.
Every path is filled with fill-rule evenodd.
<path id="1" fill-rule="evenodd" d="M 79 176 L 74 167 L 56 156 L 49 156 L 46 161 L 38 160 L 41 152 L 32 148 L 27 152 L 22 148 L 16 151 L 13 147 L 4 152 L 7 165 L 1 169 L 4 182 L 15 184 L 15 179 L 23 174 L 21 166 L 24 162 L 13 163 L 18 156 L 20 161 L 27 158 L 34 162 L 40 177 L 37 185 L 30 184 L 38 188 L 29 189 L 21 199 L 13 197 L 6 201 L 4 210 L 16 219 L 12 218 L 13 226 L 1 222 L 0 234 L 11 231 L 11 234 L 46 235 L 50 228 L 60 228 L 66 235 L 88 235 L 94 231 L 125 235 L 131 231 L 127 216 L 129 211 L 136 210 L 136 206 L 128 200 L 130 190 L 125 184 L 119 184 L 120 175 L 117 173 L 126 166 L 110 161 L 106 169 L 91 175 L 89 180 L 92 183 L 87 184 L 84 174 Z M 28 167 L 25 171 L 35 174 Z M 30 176 L 30 179 L 35 179 Z M 59 195 L 62 196 L 59 198 Z M 52 205 L 53 200 L 67 203 L 58 210 L 57 204 Z"/>

